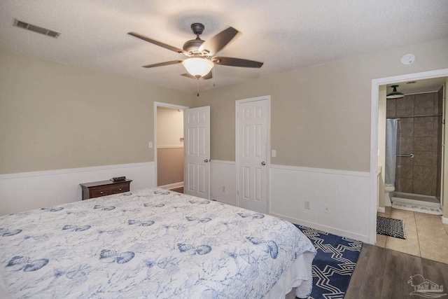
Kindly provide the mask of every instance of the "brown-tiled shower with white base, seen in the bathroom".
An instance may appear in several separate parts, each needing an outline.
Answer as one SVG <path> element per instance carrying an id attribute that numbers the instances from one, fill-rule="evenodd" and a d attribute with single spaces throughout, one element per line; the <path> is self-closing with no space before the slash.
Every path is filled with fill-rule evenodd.
<path id="1" fill-rule="evenodd" d="M 442 214 L 445 82 L 445 78 L 435 78 L 400 83 L 396 89 L 404 95 L 386 99 L 387 125 L 390 125 L 386 125 L 386 151 L 387 141 L 395 147 L 395 165 L 389 165 L 391 159 L 386 157 L 385 167 L 386 172 L 391 172 L 393 167 L 395 176 L 386 183 L 393 183 L 395 188 L 390 193 L 395 208 Z M 393 91 L 391 85 L 396 86 L 387 85 L 387 94 Z M 396 120 L 395 127 L 391 126 L 390 120 Z M 385 198 L 384 202 L 388 199 Z"/>

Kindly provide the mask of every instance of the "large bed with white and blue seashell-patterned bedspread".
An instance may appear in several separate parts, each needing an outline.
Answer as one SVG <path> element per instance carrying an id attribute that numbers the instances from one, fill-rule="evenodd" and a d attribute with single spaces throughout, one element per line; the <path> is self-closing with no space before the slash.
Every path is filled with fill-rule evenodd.
<path id="1" fill-rule="evenodd" d="M 2 216 L 0 253 L 10 298 L 271 299 L 311 292 L 316 250 L 280 218 L 149 188 Z"/>

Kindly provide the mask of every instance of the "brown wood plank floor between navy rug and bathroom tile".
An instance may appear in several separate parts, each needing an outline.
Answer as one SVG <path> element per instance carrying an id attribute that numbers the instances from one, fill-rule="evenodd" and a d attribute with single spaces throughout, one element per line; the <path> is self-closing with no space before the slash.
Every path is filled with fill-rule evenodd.
<path id="1" fill-rule="evenodd" d="M 441 248 L 440 250 L 447 249 Z M 414 291 L 414 287 L 407 281 L 415 274 L 421 274 L 425 279 L 443 286 L 443 293 L 447 293 L 448 264 L 363 244 L 344 298 L 423 298 L 418 295 L 409 295 Z M 448 298 L 448 295 L 441 298 Z"/>

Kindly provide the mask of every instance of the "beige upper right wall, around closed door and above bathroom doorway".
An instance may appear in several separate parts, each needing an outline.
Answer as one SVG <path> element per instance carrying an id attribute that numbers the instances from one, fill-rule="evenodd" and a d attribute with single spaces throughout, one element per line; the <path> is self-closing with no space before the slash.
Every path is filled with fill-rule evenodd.
<path id="1" fill-rule="evenodd" d="M 448 68 L 447 53 L 448 39 L 396 48 L 192 94 L 191 106 L 211 106 L 211 159 L 235 160 L 235 100 L 271 95 L 273 164 L 369 172 L 372 79 Z"/>

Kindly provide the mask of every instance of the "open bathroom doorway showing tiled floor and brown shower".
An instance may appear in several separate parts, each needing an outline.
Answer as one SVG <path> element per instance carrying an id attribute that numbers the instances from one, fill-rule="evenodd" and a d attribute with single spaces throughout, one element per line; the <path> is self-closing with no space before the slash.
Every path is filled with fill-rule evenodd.
<path id="1" fill-rule="evenodd" d="M 448 241 L 437 233 L 445 230 L 440 215 L 447 79 L 381 85 L 378 111 L 378 166 L 385 179 L 378 189 L 384 201 L 377 216 L 404 221 L 406 238 L 377 235 L 375 245 L 442 263 L 448 262 L 437 250 Z"/>

